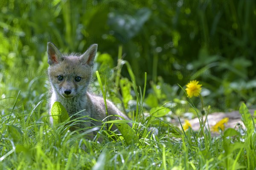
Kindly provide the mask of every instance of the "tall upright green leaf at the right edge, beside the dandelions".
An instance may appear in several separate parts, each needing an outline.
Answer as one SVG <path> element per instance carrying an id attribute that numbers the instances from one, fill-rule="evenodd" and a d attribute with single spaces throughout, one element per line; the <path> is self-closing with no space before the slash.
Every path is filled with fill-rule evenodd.
<path id="1" fill-rule="evenodd" d="M 244 103 L 241 104 L 239 113 L 242 115 L 242 121 L 247 128 L 247 134 L 250 134 L 253 131 L 253 120 L 248 108 Z"/>

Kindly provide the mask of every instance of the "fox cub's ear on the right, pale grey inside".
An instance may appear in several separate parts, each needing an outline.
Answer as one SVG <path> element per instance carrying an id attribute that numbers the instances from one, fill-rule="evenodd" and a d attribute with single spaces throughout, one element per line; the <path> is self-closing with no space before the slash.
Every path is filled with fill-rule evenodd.
<path id="1" fill-rule="evenodd" d="M 81 61 L 83 64 L 87 64 L 87 65 L 89 65 L 89 66 L 92 67 L 92 66 L 93 66 L 94 58 L 95 58 L 95 56 L 96 56 L 97 48 L 98 48 L 98 45 L 97 45 L 97 44 L 91 45 L 91 46 L 85 51 L 85 53 L 80 56 L 80 61 Z"/>

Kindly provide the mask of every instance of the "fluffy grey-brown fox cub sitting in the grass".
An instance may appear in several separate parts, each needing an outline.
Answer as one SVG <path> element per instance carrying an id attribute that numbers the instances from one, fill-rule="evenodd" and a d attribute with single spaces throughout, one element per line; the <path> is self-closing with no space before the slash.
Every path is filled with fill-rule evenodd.
<path id="1" fill-rule="evenodd" d="M 82 55 L 64 55 L 52 43 L 47 43 L 48 75 L 51 85 L 51 98 L 49 103 L 49 114 L 54 102 L 58 101 L 66 108 L 69 116 L 76 114 L 72 119 L 79 117 L 83 121 L 76 125 L 78 128 L 101 126 L 102 122 L 92 121 L 87 116 L 103 120 L 106 118 L 104 99 L 94 96 L 87 91 L 93 74 L 93 60 L 97 51 L 97 44 L 91 45 Z M 107 100 L 108 115 L 119 115 L 128 119 L 110 101 Z M 110 116 L 109 119 L 121 119 L 119 116 Z M 106 121 L 106 120 L 105 120 Z M 50 116 L 50 122 L 52 117 Z M 112 130 L 116 129 L 113 127 Z"/>

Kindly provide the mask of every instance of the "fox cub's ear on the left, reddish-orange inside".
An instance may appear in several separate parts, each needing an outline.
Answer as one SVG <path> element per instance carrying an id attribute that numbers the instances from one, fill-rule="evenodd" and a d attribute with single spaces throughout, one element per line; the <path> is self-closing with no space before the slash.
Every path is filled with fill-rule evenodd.
<path id="1" fill-rule="evenodd" d="M 47 43 L 47 54 L 48 54 L 48 64 L 57 64 L 61 61 L 63 61 L 63 57 L 61 55 L 61 52 L 58 50 L 58 48 L 52 43 Z"/>

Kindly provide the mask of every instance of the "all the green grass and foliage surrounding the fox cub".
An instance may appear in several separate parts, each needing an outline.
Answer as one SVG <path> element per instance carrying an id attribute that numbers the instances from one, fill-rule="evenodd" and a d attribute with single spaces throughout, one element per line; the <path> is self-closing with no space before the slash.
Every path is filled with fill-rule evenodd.
<path id="1" fill-rule="evenodd" d="M 254 1 L 28 3 L 0 2 L 0 169 L 256 168 L 255 116 L 247 109 L 256 105 Z M 94 129 L 70 131 L 81 122 L 55 103 L 52 127 L 49 41 L 64 53 L 98 43 L 90 91 L 131 120 L 103 122 L 88 140 Z M 211 136 L 204 122 L 198 131 L 172 124 L 178 116 L 201 121 L 199 99 L 188 102 L 177 85 L 192 79 L 203 84 L 207 113 L 244 102 L 245 128 Z"/>

